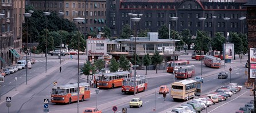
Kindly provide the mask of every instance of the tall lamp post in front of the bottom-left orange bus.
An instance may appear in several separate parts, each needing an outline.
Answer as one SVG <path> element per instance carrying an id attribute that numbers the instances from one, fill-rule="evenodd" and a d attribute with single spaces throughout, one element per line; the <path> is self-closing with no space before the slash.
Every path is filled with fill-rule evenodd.
<path id="1" fill-rule="evenodd" d="M 81 23 L 84 21 L 84 18 L 80 18 L 80 17 L 77 17 L 77 18 L 73 18 L 73 21 L 74 22 L 77 22 L 77 23 Z M 78 27 L 78 32 L 80 31 L 79 30 L 80 27 Z M 77 60 L 78 60 L 78 64 L 77 64 L 77 69 L 78 69 L 78 72 L 77 72 L 77 94 L 79 94 L 79 74 L 80 74 L 80 70 L 79 70 L 79 48 L 80 48 L 80 35 L 78 36 L 78 46 L 77 46 Z M 77 96 L 77 113 L 79 112 L 79 96 Z"/>

